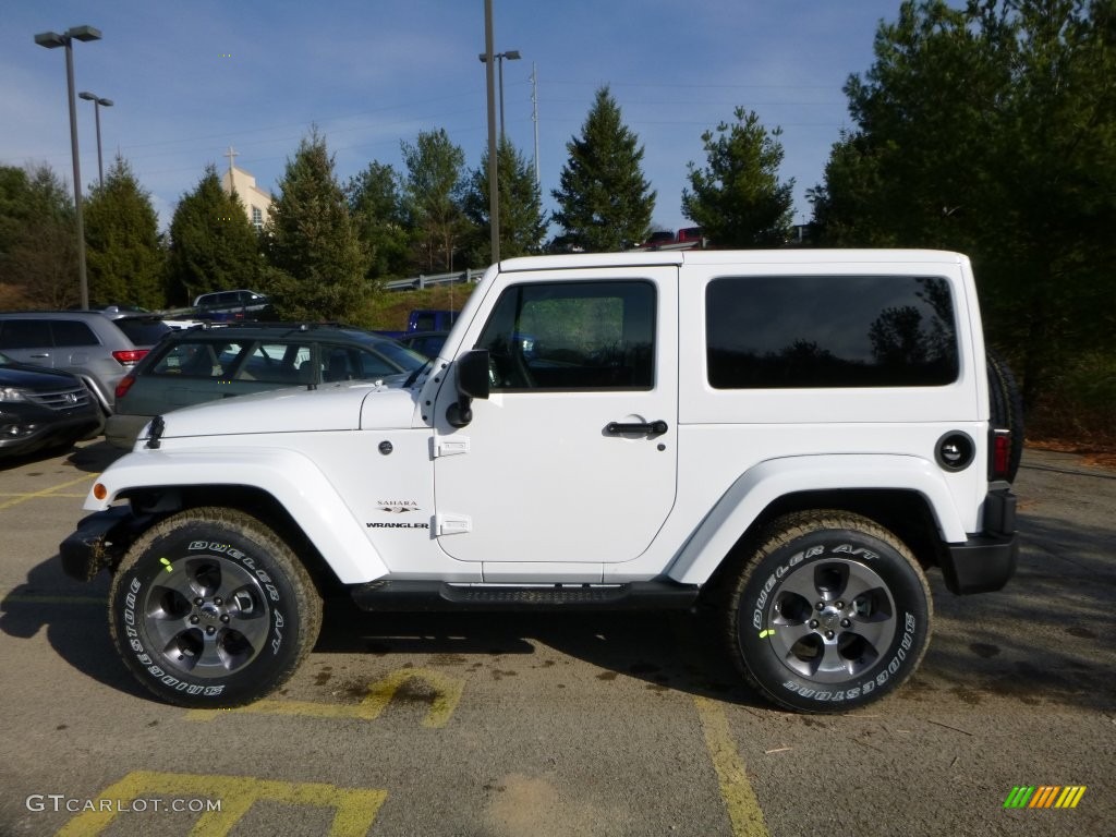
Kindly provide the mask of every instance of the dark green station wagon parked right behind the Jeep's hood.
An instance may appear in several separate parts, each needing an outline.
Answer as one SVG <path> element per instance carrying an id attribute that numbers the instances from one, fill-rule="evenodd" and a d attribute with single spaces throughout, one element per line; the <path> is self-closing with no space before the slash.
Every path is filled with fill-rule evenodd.
<path id="1" fill-rule="evenodd" d="M 348 326 L 229 323 L 171 331 L 117 385 L 105 437 L 129 449 L 147 422 L 177 407 L 286 386 L 405 376 L 424 363 L 396 340 Z"/>

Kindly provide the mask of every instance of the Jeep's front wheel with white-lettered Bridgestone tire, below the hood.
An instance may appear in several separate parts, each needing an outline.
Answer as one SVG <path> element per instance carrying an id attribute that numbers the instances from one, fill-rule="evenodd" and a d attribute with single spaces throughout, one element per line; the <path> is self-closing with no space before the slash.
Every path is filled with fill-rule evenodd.
<path id="1" fill-rule="evenodd" d="M 113 579 L 109 625 L 141 683 L 180 706 L 227 709 L 285 683 L 317 641 L 321 600 L 283 541 L 228 509 L 145 532 Z"/>

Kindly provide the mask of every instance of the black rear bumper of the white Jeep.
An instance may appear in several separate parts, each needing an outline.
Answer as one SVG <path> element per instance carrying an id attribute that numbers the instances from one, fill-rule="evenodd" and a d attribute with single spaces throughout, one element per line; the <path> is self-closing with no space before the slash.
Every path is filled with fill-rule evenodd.
<path id="1" fill-rule="evenodd" d="M 946 545 L 942 575 L 952 593 L 992 593 L 1016 574 L 1016 496 L 1006 483 L 993 485 L 984 500 L 984 528 L 964 543 Z"/>

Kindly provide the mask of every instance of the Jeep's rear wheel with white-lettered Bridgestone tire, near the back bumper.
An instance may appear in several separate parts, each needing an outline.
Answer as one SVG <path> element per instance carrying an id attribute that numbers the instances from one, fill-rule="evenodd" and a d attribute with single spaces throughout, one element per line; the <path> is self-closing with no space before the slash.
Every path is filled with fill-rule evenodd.
<path id="1" fill-rule="evenodd" d="M 932 599 L 910 550 L 858 514 L 773 521 L 728 590 L 724 629 L 744 679 L 798 712 L 845 712 L 894 691 L 930 643 Z"/>

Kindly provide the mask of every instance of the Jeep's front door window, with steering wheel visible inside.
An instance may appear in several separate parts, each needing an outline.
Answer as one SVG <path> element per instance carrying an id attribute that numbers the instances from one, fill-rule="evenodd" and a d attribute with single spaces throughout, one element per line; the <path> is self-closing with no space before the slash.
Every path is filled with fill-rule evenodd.
<path id="1" fill-rule="evenodd" d="M 489 350 L 493 391 L 651 389 L 654 324 L 650 282 L 519 285 L 477 348 Z"/>

